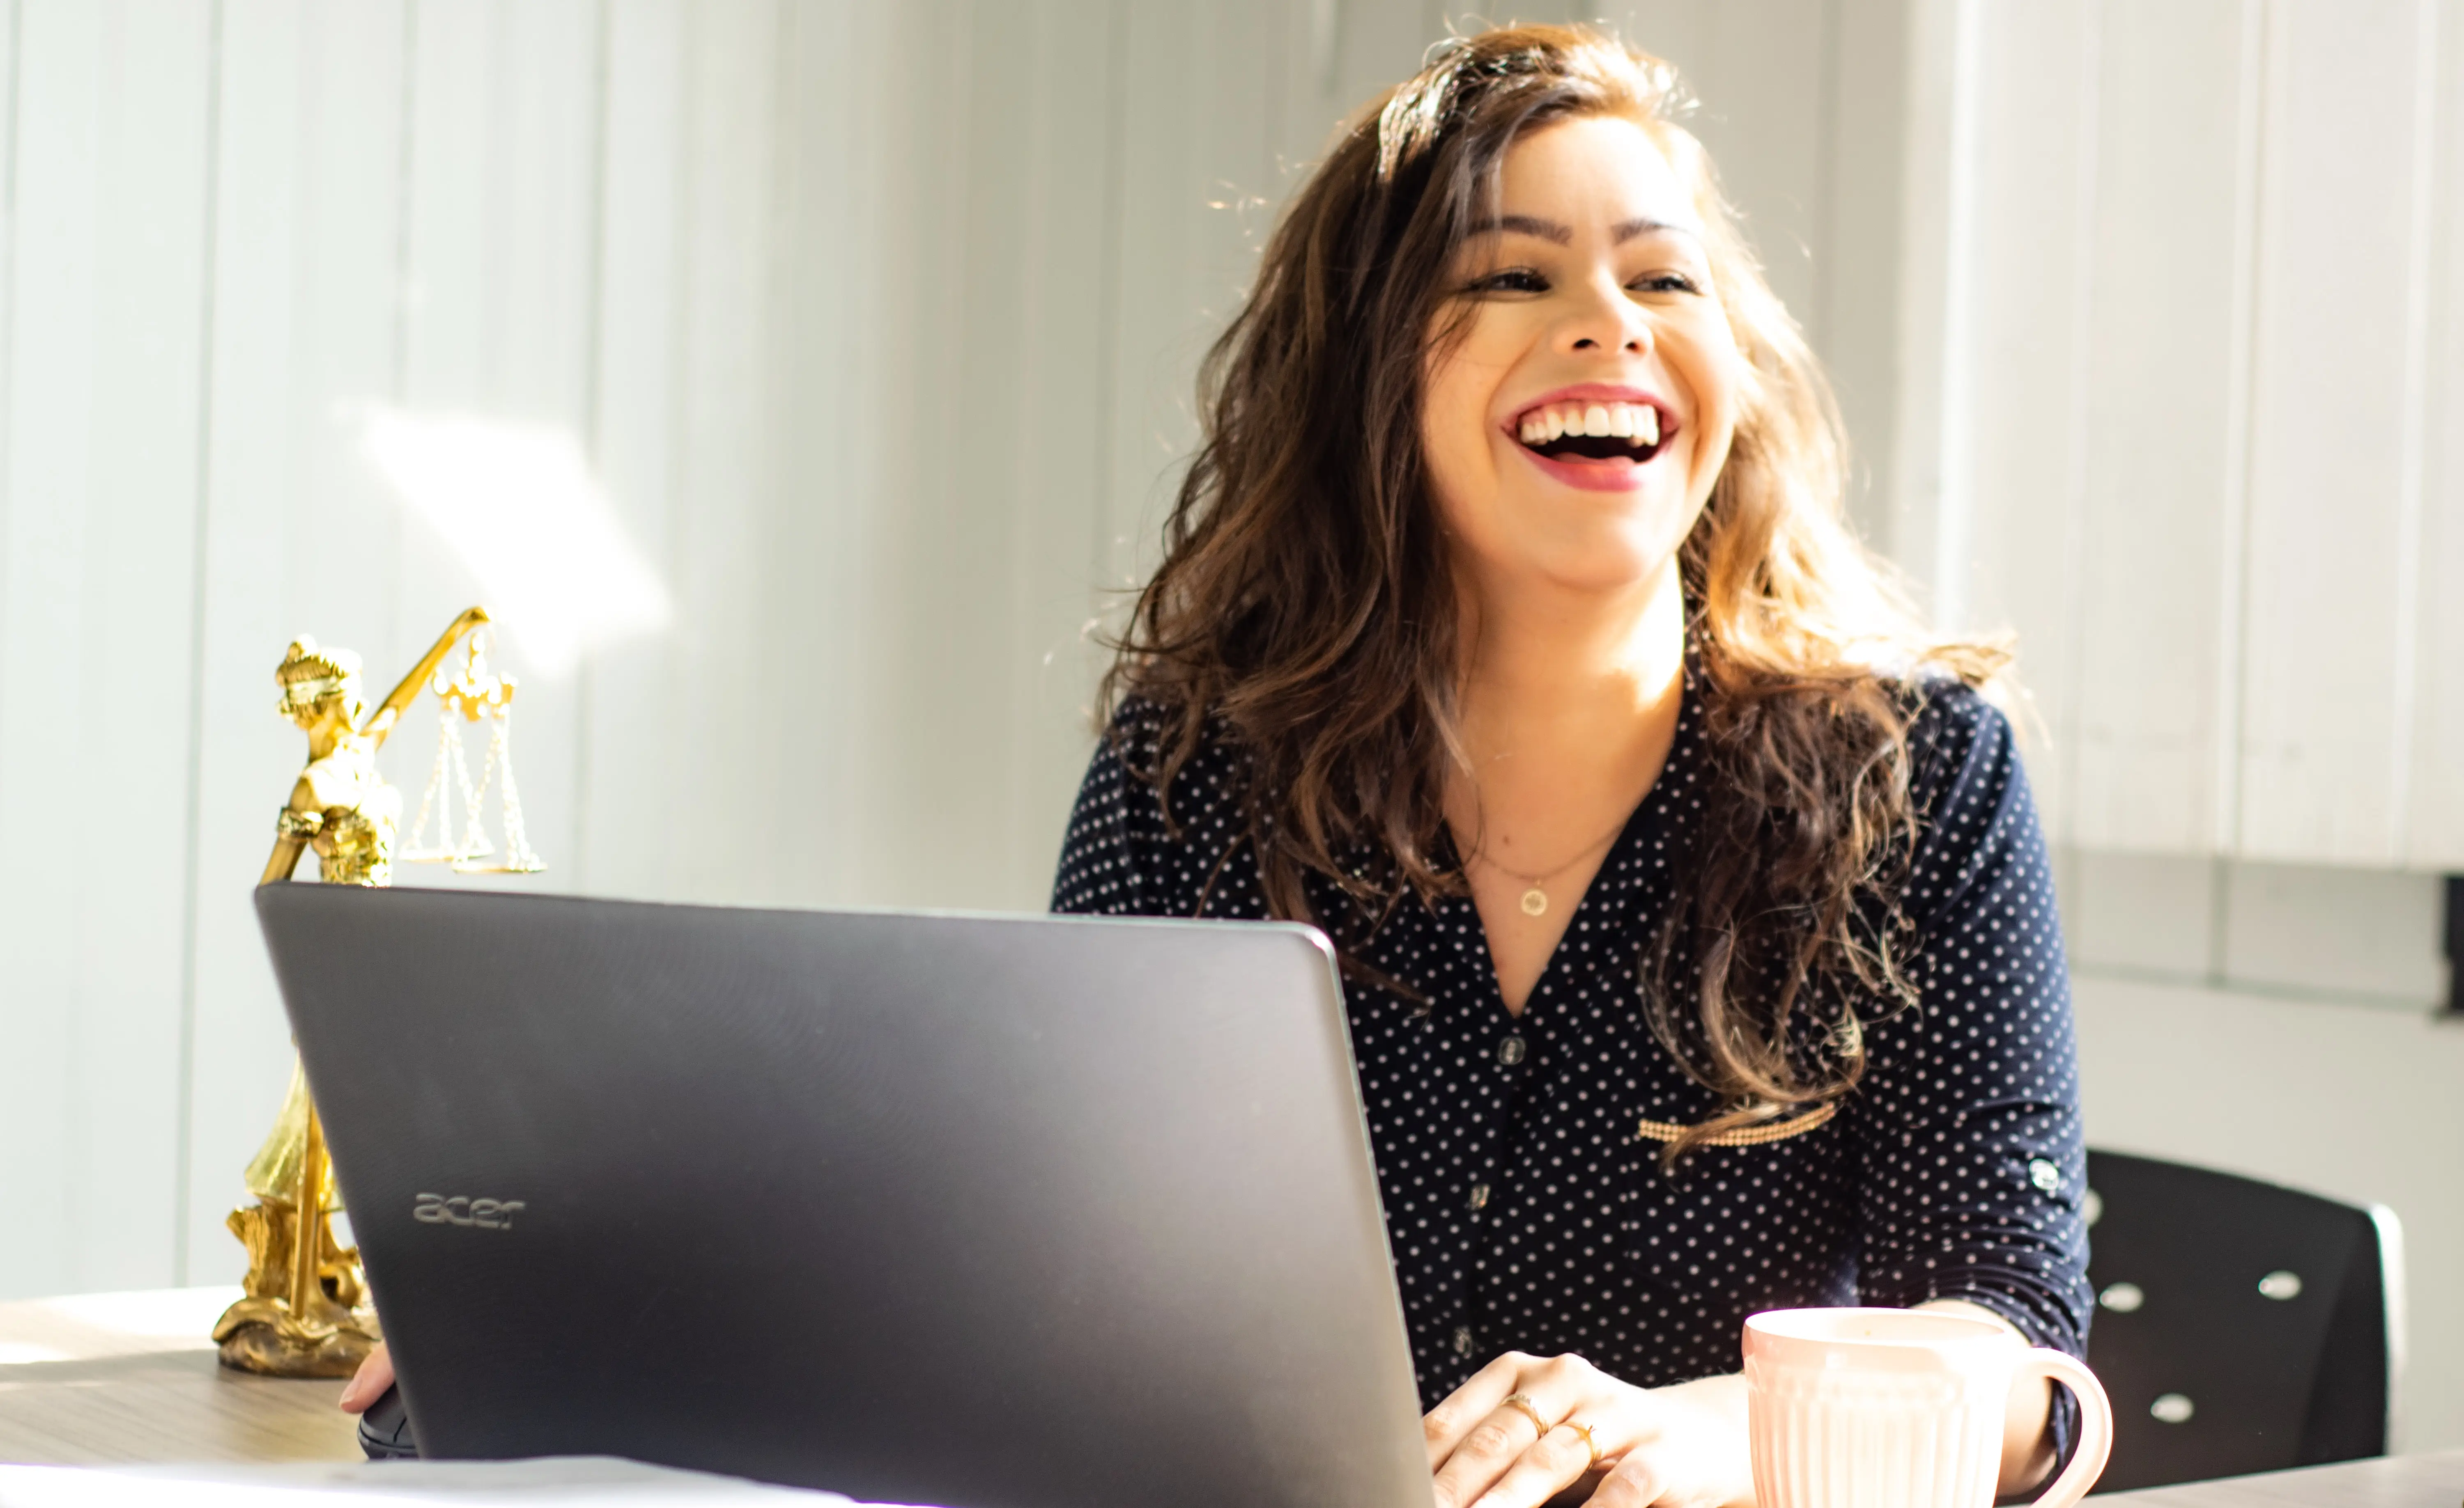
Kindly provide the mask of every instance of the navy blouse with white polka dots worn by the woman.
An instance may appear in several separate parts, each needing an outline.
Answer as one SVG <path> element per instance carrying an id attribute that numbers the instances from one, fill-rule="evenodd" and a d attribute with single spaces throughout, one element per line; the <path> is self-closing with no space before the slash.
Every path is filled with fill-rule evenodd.
<path id="1" fill-rule="evenodd" d="M 1234 752 L 1183 766 L 1173 838 L 1119 752 L 1151 769 L 1161 732 L 1156 707 L 1121 707 L 1052 909 L 1266 917 Z M 1863 1084 L 1796 1136 L 1698 1148 L 1663 1173 L 1663 1143 L 1639 1133 L 1715 1109 L 1651 1035 L 1636 978 L 1639 941 L 1685 885 L 1710 779 L 1693 675 L 1658 784 L 1520 1018 L 1469 894 L 1407 902 L 1360 949 L 1429 1000 L 1345 988 L 1427 1405 L 1503 1350 L 1577 1353 L 1643 1387 L 1735 1372 L 1745 1316 L 1789 1306 L 1969 1299 L 2082 1350 L 2070 983 L 2028 781 L 2008 722 L 1956 683 L 1927 685 L 1910 744 L 1922 835 L 1902 904 L 1919 1005 L 1868 1025 Z"/>

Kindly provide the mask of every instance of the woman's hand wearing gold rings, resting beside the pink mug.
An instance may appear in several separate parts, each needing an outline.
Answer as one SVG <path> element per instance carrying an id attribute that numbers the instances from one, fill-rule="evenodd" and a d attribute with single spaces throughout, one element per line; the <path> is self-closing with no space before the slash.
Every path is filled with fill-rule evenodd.
<path id="1" fill-rule="evenodd" d="M 1745 1377 L 1634 1387 L 1579 1355 L 1508 1350 L 1429 1409 L 1422 1434 L 1437 1508 L 1538 1508 L 1584 1478 L 1594 1508 L 1754 1501 Z"/>

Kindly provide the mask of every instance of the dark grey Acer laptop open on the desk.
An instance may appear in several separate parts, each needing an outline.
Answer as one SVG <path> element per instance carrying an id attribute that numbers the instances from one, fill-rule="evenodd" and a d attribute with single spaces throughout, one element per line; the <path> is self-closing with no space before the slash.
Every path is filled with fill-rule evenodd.
<path id="1" fill-rule="evenodd" d="M 342 885 L 256 914 L 424 1456 L 1427 1508 L 1316 931 Z"/>

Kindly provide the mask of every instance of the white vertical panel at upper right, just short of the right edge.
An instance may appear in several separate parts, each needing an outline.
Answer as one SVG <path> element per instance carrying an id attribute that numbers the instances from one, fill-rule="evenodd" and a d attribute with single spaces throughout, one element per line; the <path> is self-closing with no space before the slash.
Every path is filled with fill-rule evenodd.
<path id="1" fill-rule="evenodd" d="M 2272 5 L 2242 623 L 2252 857 L 2393 862 L 2400 848 L 2430 17 L 2425 0 Z"/>

